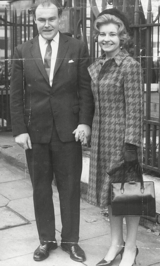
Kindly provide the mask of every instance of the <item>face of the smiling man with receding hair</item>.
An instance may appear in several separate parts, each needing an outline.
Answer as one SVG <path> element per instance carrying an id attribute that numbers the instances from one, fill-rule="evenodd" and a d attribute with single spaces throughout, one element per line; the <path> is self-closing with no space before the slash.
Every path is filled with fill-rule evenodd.
<path id="1" fill-rule="evenodd" d="M 48 7 L 39 5 L 35 11 L 34 21 L 37 24 L 38 32 L 46 40 L 51 40 L 56 36 L 60 20 L 58 9 L 54 4 Z"/>

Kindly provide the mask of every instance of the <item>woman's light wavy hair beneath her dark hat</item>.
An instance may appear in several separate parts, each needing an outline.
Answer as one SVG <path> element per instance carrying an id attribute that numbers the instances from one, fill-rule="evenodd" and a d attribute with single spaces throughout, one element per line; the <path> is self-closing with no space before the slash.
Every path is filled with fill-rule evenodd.
<path id="1" fill-rule="evenodd" d="M 128 32 L 126 31 L 126 27 L 124 23 L 122 22 L 121 19 L 117 18 L 114 15 L 110 15 L 110 14 L 104 14 L 96 18 L 94 22 L 94 31 L 93 31 L 95 42 L 97 42 L 98 40 L 100 26 L 107 25 L 110 23 L 118 26 L 118 37 L 121 40 L 120 44 L 122 45 L 126 43 L 130 39 L 130 37 L 128 35 Z"/>

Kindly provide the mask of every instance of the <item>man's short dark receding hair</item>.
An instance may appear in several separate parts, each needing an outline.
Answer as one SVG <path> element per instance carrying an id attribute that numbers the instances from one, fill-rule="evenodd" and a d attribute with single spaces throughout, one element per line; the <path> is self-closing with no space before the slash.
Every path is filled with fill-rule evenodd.
<path id="1" fill-rule="evenodd" d="M 33 18 L 36 18 L 35 11 L 39 5 L 42 5 L 43 7 L 49 7 L 51 4 L 54 4 L 58 9 L 58 16 L 62 14 L 62 6 L 58 3 L 57 0 L 38 0 L 35 2 L 33 7 L 30 9 L 30 11 L 33 14 Z"/>

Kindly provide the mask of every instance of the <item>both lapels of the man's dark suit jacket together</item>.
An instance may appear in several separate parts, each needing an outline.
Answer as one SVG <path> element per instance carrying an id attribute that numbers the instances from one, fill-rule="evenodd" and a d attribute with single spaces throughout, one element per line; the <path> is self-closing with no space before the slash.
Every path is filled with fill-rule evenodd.
<path id="1" fill-rule="evenodd" d="M 42 56 L 41 56 L 38 35 L 35 36 L 35 38 L 33 38 L 32 40 L 30 40 L 30 42 L 33 44 L 30 48 L 30 52 L 33 56 L 35 63 L 37 64 L 37 67 L 41 71 L 43 77 L 45 78 L 47 83 L 50 85 L 50 82 L 49 82 L 49 79 L 48 79 L 48 76 L 47 76 L 47 73 L 46 73 L 46 70 L 45 70 L 45 67 L 43 64 Z M 68 41 L 67 37 L 65 35 L 63 35 L 61 32 L 59 32 L 59 46 L 58 46 L 58 53 L 57 53 L 57 59 L 56 59 L 56 63 L 55 63 L 53 76 L 55 76 L 55 73 L 57 72 L 63 59 L 65 58 L 65 54 L 68 50 L 67 41 Z"/>

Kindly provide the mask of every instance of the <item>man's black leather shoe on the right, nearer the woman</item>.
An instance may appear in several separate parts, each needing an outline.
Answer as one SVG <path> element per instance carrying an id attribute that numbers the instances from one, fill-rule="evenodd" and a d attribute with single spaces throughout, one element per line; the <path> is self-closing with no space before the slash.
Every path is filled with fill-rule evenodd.
<path id="1" fill-rule="evenodd" d="M 74 246 L 69 246 L 67 243 L 61 242 L 61 248 L 64 251 L 69 251 L 70 258 L 75 261 L 85 261 L 85 252 L 78 246 L 78 244 L 75 244 Z"/>

